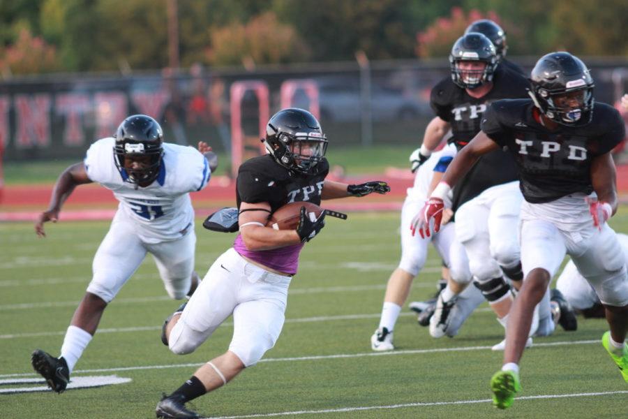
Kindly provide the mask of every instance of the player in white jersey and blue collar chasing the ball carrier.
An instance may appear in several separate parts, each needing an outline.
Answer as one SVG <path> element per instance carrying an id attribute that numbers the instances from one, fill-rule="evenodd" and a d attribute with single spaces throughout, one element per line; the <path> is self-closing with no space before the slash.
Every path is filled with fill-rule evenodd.
<path id="1" fill-rule="evenodd" d="M 199 142 L 198 148 L 163 142 L 155 119 L 133 115 L 124 119 L 114 137 L 94 142 L 84 161 L 64 170 L 54 184 L 50 206 L 35 224 L 40 237 L 45 237 L 44 223 L 57 222 L 63 203 L 77 185 L 98 182 L 119 200 L 109 232 L 94 256 L 93 276 L 63 339 L 61 355 L 55 358 L 38 349 L 31 357 L 35 371 L 55 392 L 66 389 L 105 307 L 147 253 L 153 255 L 170 297 L 180 300 L 195 290 L 196 235 L 189 193 L 207 186 L 218 165 L 207 143 Z"/>

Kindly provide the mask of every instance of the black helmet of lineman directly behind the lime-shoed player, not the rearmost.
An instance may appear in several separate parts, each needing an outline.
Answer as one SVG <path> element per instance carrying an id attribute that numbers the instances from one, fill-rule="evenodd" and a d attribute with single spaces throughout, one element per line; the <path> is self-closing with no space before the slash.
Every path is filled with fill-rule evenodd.
<path id="1" fill-rule="evenodd" d="M 461 61 L 482 61 L 486 63 L 486 67 L 482 71 L 461 72 L 459 68 Z M 449 54 L 451 79 L 463 89 L 474 89 L 493 80 L 493 73 L 498 62 L 495 45 L 491 40 L 477 32 L 470 32 L 458 38 L 454 47 L 451 48 L 451 54 Z"/>

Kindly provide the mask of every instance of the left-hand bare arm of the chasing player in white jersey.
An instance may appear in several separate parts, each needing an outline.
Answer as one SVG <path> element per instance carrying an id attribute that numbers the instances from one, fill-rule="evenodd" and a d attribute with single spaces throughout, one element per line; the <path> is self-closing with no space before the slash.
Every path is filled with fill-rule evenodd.
<path id="1" fill-rule="evenodd" d="M 85 170 L 84 163 L 75 163 L 61 172 L 57 182 L 52 189 L 52 196 L 50 197 L 50 204 L 48 209 L 39 214 L 35 223 L 35 232 L 39 237 L 46 237 L 44 230 L 44 223 L 52 221 L 56 223 L 59 219 L 59 212 L 61 206 L 70 197 L 72 191 L 77 185 L 91 183 L 89 177 L 87 177 L 87 170 Z"/>

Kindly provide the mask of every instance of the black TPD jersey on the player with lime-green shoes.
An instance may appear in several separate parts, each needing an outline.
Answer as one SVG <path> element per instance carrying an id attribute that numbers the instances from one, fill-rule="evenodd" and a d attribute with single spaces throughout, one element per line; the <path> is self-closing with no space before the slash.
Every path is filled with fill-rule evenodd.
<path id="1" fill-rule="evenodd" d="M 586 124 L 550 131 L 532 100 L 498 101 L 484 114 L 482 131 L 514 156 L 525 200 L 547 203 L 571 193 L 591 193 L 592 159 L 610 152 L 625 136 L 615 108 L 595 103 L 592 112 Z"/>

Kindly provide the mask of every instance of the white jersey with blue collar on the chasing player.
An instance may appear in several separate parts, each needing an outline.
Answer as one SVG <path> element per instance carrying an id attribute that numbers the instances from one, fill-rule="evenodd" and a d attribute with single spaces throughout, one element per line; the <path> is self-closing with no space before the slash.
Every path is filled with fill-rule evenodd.
<path id="1" fill-rule="evenodd" d="M 118 212 L 135 221 L 136 233 L 147 243 L 181 238 L 194 228 L 194 210 L 189 192 L 200 191 L 209 182 L 207 159 L 193 147 L 165 142 L 157 179 L 145 188 L 125 182 L 126 171 L 114 161 L 114 138 L 94 142 L 87 150 L 85 168 L 94 182 L 113 191 L 120 201 Z"/>

